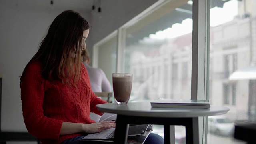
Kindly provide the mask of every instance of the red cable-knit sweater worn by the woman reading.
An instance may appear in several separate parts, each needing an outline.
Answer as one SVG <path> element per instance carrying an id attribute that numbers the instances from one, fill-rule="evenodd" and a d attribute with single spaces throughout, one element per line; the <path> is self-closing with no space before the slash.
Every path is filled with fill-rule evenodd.
<path id="1" fill-rule="evenodd" d="M 92 92 L 87 70 L 82 63 L 81 69 L 81 80 L 75 88 L 44 79 L 40 62 L 33 62 L 26 68 L 20 87 L 23 118 L 28 132 L 40 138 L 42 144 L 60 144 L 68 138 L 82 135 L 60 136 L 62 123 L 94 123 L 89 117 L 90 112 L 100 114 L 96 104 L 106 103 Z"/>

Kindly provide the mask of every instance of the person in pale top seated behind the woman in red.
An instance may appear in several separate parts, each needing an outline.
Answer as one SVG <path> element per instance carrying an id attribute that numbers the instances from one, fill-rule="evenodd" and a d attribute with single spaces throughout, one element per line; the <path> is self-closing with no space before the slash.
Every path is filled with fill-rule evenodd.
<path id="1" fill-rule="evenodd" d="M 100 68 L 93 68 L 89 65 L 90 55 L 87 50 L 83 50 L 83 64 L 86 67 L 90 83 L 93 92 L 112 92 L 112 87 L 110 82 L 108 81 L 105 73 Z"/>

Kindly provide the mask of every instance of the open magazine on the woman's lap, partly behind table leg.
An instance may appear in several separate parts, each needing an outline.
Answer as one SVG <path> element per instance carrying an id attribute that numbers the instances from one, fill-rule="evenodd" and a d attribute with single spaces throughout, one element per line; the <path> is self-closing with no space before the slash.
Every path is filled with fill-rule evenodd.
<path id="1" fill-rule="evenodd" d="M 100 118 L 99 122 L 116 120 L 116 114 L 104 113 Z M 143 144 L 150 132 L 152 132 L 153 126 L 151 124 L 130 124 L 128 130 L 128 144 Z M 81 141 L 104 141 L 104 142 L 114 142 L 115 128 L 110 128 L 102 130 L 98 133 L 88 134 Z"/>

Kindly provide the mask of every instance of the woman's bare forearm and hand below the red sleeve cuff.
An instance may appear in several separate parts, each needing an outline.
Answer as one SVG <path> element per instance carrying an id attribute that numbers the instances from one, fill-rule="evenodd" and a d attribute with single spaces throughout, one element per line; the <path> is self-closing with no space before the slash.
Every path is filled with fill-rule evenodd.
<path id="1" fill-rule="evenodd" d="M 116 124 L 114 121 L 97 122 L 92 124 L 63 122 L 62 127 L 60 129 L 60 135 L 75 134 L 78 132 L 95 133 L 95 132 L 101 132 L 102 130 L 105 130 L 108 128 L 115 128 L 115 127 L 116 127 Z"/>

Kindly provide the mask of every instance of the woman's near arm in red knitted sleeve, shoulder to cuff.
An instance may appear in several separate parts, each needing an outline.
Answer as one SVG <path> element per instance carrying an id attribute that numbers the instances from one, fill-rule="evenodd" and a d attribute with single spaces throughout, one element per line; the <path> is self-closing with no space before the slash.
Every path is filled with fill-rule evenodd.
<path id="1" fill-rule="evenodd" d="M 24 70 L 20 86 L 23 118 L 28 132 L 33 136 L 58 140 L 63 120 L 44 116 L 45 80 L 41 69 L 41 64 L 34 62 Z"/>

